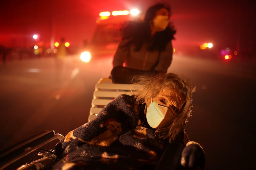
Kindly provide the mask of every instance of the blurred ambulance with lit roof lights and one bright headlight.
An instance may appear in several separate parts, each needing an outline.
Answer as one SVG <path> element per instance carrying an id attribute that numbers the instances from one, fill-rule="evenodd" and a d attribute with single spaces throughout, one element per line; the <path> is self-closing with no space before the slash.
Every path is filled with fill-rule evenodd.
<path id="1" fill-rule="evenodd" d="M 140 21 L 141 19 L 141 12 L 137 9 L 100 12 L 92 40 L 84 44 L 80 59 L 88 63 L 91 59 L 113 56 L 121 41 L 122 26 L 129 20 Z"/>

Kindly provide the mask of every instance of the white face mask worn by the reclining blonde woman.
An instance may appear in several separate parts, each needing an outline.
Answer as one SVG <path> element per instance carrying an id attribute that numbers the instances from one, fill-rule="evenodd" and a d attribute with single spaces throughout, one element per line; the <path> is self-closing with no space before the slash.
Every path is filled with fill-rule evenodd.
<path id="1" fill-rule="evenodd" d="M 152 128 L 158 128 L 174 119 L 174 111 L 167 105 L 152 101 L 147 108 L 146 118 Z"/>

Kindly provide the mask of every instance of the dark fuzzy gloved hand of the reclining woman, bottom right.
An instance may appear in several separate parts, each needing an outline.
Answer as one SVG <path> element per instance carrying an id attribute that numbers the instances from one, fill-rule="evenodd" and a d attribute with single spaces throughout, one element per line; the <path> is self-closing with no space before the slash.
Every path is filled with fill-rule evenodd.
<path id="1" fill-rule="evenodd" d="M 203 147 L 194 141 L 189 141 L 181 153 L 180 164 L 181 169 L 204 169 L 205 153 Z"/>

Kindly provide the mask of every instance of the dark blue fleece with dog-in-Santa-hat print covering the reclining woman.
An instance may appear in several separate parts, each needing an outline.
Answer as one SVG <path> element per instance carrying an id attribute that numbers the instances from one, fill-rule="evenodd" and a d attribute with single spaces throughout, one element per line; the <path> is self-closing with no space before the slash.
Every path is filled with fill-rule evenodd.
<path id="1" fill-rule="evenodd" d="M 133 96 L 118 96 L 94 120 L 70 131 L 56 145 L 62 159 L 56 169 L 154 169 L 168 142 L 155 137 L 155 129 L 144 118 L 144 107 Z"/>

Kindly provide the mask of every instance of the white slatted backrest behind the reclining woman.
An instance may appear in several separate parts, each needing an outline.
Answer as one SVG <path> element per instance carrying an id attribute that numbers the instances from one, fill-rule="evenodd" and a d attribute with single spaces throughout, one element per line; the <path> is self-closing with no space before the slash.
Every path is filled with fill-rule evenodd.
<path id="1" fill-rule="evenodd" d="M 88 121 L 93 120 L 104 106 L 120 94 L 132 95 L 131 90 L 136 91 L 140 88 L 141 85 L 114 84 L 110 78 L 101 78 L 95 85 Z"/>

